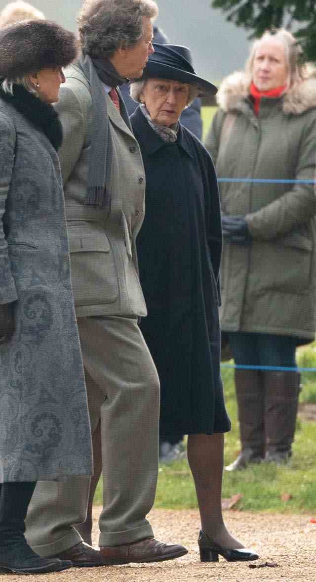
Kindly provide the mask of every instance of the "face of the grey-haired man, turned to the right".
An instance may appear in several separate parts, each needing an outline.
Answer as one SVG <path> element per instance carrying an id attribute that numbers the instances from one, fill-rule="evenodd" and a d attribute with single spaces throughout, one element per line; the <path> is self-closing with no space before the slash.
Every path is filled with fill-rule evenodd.
<path id="1" fill-rule="evenodd" d="M 154 51 L 153 26 L 149 17 L 143 16 L 143 34 L 137 44 L 132 48 L 126 48 L 124 58 L 120 62 L 119 73 L 128 79 L 138 79 L 142 76 L 149 55 Z"/>

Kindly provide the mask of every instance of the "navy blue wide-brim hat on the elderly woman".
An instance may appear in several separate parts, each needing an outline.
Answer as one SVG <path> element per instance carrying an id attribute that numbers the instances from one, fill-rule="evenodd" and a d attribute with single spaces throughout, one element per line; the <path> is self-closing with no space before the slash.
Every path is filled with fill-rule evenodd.
<path id="1" fill-rule="evenodd" d="M 200 94 L 215 95 L 217 87 L 199 77 L 192 66 L 192 53 L 189 48 L 175 44 L 153 43 L 155 52 L 149 56 L 148 62 L 143 69 L 141 80 L 168 79 L 170 81 L 181 81 L 189 83 L 199 88 Z"/>

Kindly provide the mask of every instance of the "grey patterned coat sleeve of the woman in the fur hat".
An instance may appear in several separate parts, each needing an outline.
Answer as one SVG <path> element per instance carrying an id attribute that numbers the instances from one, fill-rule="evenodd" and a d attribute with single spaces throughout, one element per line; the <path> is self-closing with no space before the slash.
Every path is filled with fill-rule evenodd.
<path id="1" fill-rule="evenodd" d="M 15 128 L 0 113 L 0 304 L 17 299 L 4 229 L 6 201 L 15 159 L 15 140 Z"/>

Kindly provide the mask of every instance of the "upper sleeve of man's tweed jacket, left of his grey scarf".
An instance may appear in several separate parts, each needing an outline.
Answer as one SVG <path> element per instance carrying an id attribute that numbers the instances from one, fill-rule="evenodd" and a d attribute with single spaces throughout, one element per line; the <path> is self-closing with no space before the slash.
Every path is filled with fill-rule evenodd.
<path id="1" fill-rule="evenodd" d="M 63 126 L 63 143 L 58 150 L 63 183 L 66 184 L 77 165 L 87 139 L 87 110 L 73 88 L 64 85 L 54 105 Z"/>

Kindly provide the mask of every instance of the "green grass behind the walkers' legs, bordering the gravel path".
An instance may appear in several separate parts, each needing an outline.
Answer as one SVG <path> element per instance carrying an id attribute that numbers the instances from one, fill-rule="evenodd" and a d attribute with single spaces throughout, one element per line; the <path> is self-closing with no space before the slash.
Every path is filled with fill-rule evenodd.
<path id="1" fill-rule="evenodd" d="M 298 350 L 301 367 L 316 367 L 315 344 Z M 240 450 L 233 371 L 223 368 L 225 399 L 232 430 L 225 436 L 225 464 L 231 463 Z M 316 373 L 304 372 L 300 402 L 316 402 Z M 248 511 L 316 513 L 316 421 L 297 421 L 293 459 L 287 466 L 260 464 L 244 471 L 224 471 L 222 496 L 229 498 L 240 493 L 243 498 L 236 508 Z M 211 475 L 210 475 L 211 477 Z M 292 495 L 288 502 L 282 494 Z M 98 485 L 95 503 L 102 504 L 102 483 Z M 159 467 L 155 501 L 156 508 L 196 508 L 196 496 L 186 460 Z"/>

